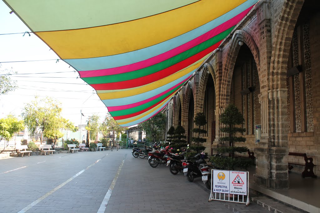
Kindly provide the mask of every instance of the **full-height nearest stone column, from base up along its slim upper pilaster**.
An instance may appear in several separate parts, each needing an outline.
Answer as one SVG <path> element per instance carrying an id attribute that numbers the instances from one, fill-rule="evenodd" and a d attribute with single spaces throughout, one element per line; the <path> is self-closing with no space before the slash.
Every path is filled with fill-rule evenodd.
<path id="1" fill-rule="evenodd" d="M 273 87 L 272 82 L 268 82 L 272 51 L 271 13 L 268 2 L 261 1 L 256 8 L 260 33 L 261 138 L 255 148 L 254 181 L 260 186 L 286 189 L 289 188 L 287 89 L 270 90 Z"/>

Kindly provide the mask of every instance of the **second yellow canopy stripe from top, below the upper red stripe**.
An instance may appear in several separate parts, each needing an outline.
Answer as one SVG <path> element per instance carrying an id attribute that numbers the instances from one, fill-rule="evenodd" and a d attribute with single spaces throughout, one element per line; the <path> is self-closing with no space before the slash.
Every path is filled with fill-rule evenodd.
<path id="1" fill-rule="evenodd" d="M 158 80 L 158 81 L 155 81 L 153 83 L 146 84 L 143 87 L 132 88 L 131 90 L 125 91 L 125 92 L 121 91 L 121 92 L 111 92 L 111 93 L 99 93 L 98 96 L 100 97 L 101 100 L 108 100 L 108 99 L 124 98 L 124 97 L 129 97 L 132 95 L 138 95 L 141 93 L 145 93 L 145 92 L 156 89 L 158 87 L 162 87 L 162 86 L 172 82 L 172 79 L 181 78 L 182 76 L 186 75 L 187 73 L 191 72 L 192 70 L 194 70 L 198 66 L 200 66 L 203 61 L 204 61 L 204 59 L 202 59 L 200 62 L 196 63 L 195 65 L 188 67 L 187 69 L 184 69 L 180 72 L 176 72 L 168 77 L 165 77 L 165 78 Z"/>

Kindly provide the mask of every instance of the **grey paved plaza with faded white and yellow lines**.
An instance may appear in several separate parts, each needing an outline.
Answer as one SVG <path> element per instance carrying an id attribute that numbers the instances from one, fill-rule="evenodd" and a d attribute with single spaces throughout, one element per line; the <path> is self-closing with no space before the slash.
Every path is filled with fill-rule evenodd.
<path id="1" fill-rule="evenodd" d="M 269 212 L 250 204 L 208 202 L 201 179 L 120 149 L 0 160 L 0 212 Z"/>

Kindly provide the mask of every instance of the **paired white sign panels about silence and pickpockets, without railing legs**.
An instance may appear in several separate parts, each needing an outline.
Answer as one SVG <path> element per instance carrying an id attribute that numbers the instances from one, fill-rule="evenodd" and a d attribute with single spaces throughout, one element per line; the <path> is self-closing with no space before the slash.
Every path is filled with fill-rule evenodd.
<path id="1" fill-rule="evenodd" d="M 247 195 L 247 172 L 212 170 L 212 192 Z"/>

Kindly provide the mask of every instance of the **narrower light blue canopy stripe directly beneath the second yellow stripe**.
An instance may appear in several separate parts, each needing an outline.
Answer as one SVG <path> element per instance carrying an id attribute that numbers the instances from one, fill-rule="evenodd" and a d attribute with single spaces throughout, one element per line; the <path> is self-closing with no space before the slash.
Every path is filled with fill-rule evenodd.
<path id="1" fill-rule="evenodd" d="M 178 83 L 182 82 L 183 80 L 188 78 L 190 75 L 192 75 L 195 71 L 196 71 L 196 69 L 189 72 L 188 74 L 182 76 L 181 78 L 170 82 L 169 84 L 166 84 L 162 87 L 158 87 L 156 89 L 150 90 L 145 93 L 141 93 L 138 95 L 132 95 L 129 97 L 124 97 L 124 98 L 116 98 L 116 99 L 101 100 L 101 101 L 106 106 L 121 106 L 121 105 L 124 105 L 123 103 L 125 103 L 125 105 L 128 105 L 128 104 L 144 101 L 144 100 L 147 100 L 148 98 L 154 97 L 154 96 L 162 93 L 163 91 L 166 91 L 167 89 L 177 85 Z"/>

